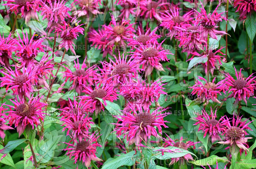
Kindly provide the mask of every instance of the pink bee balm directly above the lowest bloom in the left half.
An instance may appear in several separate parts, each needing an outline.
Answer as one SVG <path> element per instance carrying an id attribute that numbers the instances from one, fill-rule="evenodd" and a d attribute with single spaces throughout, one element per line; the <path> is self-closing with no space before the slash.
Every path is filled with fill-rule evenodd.
<path id="1" fill-rule="evenodd" d="M 62 131 L 68 129 L 67 136 L 70 136 L 74 140 L 74 142 L 77 142 L 77 138 L 80 142 L 83 140 L 83 138 L 88 138 L 88 130 L 91 129 L 90 124 L 94 124 L 94 122 L 92 122 L 91 120 L 92 118 L 88 117 L 88 114 L 85 114 L 83 112 L 83 109 L 77 111 L 77 114 L 72 114 L 68 117 L 63 116 L 60 119 L 60 121 L 64 122 L 62 124 L 62 126 L 64 126 Z"/>

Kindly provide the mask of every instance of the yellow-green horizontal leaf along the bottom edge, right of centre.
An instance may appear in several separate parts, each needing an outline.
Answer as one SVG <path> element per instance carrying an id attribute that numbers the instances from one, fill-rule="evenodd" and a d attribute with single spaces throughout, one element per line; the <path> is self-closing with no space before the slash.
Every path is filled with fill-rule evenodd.
<path id="1" fill-rule="evenodd" d="M 192 164 L 195 165 L 215 165 L 216 161 L 218 161 L 218 163 L 229 163 L 230 161 L 228 160 L 227 157 L 218 157 L 216 155 L 212 155 L 210 157 L 204 158 L 204 159 L 200 159 L 200 160 L 196 160 L 196 161 L 189 161 Z"/>

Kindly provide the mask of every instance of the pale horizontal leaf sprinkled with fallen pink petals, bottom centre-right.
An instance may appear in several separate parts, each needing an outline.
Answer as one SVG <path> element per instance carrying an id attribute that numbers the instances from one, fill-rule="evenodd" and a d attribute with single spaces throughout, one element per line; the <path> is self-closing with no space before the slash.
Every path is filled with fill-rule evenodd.
<path id="1" fill-rule="evenodd" d="M 162 150 L 164 151 L 164 155 L 162 155 Z M 169 152 L 168 152 L 169 151 Z M 182 157 L 185 156 L 186 154 L 192 154 L 196 156 L 194 153 L 174 147 L 174 146 L 168 146 L 168 147 L 155 147 L 153 149 L 153 159 L 160 159 L 160 160 L 165 160 L 165 159 L 170 159 L 170 158 L 177 158 L 177 157 Z"/>

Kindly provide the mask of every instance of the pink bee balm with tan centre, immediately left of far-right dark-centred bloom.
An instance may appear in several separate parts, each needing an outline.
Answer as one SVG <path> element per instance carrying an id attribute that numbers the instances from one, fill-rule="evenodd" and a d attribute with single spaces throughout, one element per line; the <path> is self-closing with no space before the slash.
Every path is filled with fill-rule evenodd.
<path id="1" fill-rule="evenodd" d="M 203 80 L 204 83 L 202 81 Z M 212 82 L 207 82 L 206 79 L 203 77 L 198 76 L 198 79 L 195 82 L 195 85 L 192 88 L 193 91 L 191 92 L 192 95 L 197 94 L 198 99 L 201 102 L 205 102 L 204 105 L 207 105 L 209 103 L 209 100 L 211 99 L 213 102 L 221 103 L 217 97 L 218 94 L 221 95 L 221 91 L 226 92 L 228 90 L 228 87 L 225 84 L 225 80 L 221 80 L 218 83 L 214 83 L 215 78 L 212 80 Z"/>

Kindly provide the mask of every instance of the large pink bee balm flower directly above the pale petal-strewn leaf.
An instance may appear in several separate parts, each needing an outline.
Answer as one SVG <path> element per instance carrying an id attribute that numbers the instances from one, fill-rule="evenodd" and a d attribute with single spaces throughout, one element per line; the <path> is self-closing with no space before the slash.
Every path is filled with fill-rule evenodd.
<path id="1" fill-rule="evenodd" d="M 160 109 L 162 107 L 157 108 L 152 113 L 149 111 L 144 112 L 141 109 L 138 109 L 138 113 L 136 113 L 136 110 L 131 110 L 128 113 L 124 112 L 124 115 L 116 116 L 118 119 L 116 129 L 114 130 L 116 135 L 121 136 L 124 134 L 127 142 L 129 141 L 129 145 L 135 143 L 137 146 L 141 146 L 142 141 L 147 144 L 150 136 L 154 136 L 157 139 L 161 138 L 158 133 L 162 134 L 162 126 L 168 128 L 164 124 L 167 122 L 164 121 L 164 117 L 169 113 L 162 114 L 166 109 Z"/>

